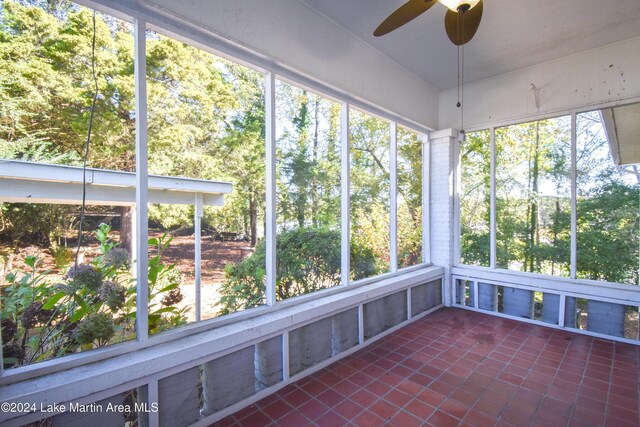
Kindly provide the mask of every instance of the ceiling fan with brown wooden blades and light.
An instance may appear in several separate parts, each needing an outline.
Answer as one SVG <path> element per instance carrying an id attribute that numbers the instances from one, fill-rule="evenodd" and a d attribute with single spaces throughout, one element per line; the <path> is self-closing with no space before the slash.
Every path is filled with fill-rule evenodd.
<path id="1" fill-rule="evenodd" d="M 385 19 L 373 32 L 383 36 L 403 26 L 429 10 L 437 2 L 449 10 L 444 17 L 444 28 L 453 44 L 468 43 L 476 34 L 482 18 L 482 0 L 409 0 Z"/>

